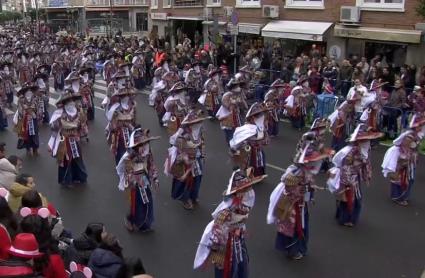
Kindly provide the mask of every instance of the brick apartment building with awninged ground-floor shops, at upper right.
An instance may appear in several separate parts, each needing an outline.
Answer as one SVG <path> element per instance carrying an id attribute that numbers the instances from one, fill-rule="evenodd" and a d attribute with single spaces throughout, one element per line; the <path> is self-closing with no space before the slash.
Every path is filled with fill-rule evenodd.
<path id="1" fill-rule="evenodd" d="M 172 42 L 177 31 L 190 38 L 198 31 L 208 41 L 208 31 L 224 34 L 233 19 L 238 23 L 239 40 L 280 40 L 293 55 L 316 44 L 323 54 L 337 60 L 349 55 L 372 58 L 381 54 L 395 65 L 422 65 L 425 24 L 415 11 L 418 2 L 151 0 L 150 29 Z"/>

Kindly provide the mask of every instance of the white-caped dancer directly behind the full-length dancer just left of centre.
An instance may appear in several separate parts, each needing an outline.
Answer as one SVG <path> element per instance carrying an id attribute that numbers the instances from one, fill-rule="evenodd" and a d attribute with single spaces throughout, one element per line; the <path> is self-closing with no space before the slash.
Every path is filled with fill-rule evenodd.
<path id="1" fill-rule="evenodd" d="M 167 126 L 168 134 L 173 135 L 187 114 L 187 87 L 183 82 L 177 82 L 170 89 L 169 94 L 170 96 L 164 102 L 166 112 L 162 121 Z"/>

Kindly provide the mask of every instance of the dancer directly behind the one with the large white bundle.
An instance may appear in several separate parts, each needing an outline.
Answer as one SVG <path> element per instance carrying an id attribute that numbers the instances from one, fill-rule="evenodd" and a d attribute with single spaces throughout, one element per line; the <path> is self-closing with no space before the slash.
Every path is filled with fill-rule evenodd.
<path id="1" fill-rule="evenodd" d="M 241 110 L 247 109 L 248 105 L 242 95 L 241 83 L 236 79 L 230 79 L 227 89 L 229 91 L 223 95 L 220 109 L 215 116 L 220 121 L 226 143 L 229 144 L 235 129 L 242 125 Z"/>

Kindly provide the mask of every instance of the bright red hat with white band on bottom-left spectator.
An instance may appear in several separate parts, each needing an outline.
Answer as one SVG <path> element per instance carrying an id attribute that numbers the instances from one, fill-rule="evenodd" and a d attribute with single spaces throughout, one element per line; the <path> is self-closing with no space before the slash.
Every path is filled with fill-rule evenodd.
<path id="1" fill-rule="evenodd" d="M 8 249 L 9 254 L 19 258 L 33 259 L 43 256 L 38 250 L 38 242 L 33 234 L 20 233 L 15 236 Z"/>

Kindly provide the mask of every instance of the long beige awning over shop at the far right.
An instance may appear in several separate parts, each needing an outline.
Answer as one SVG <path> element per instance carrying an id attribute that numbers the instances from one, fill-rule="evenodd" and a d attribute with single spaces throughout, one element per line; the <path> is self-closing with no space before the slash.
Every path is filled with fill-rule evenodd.
<path id="1" fill-rule="evenodd" d="M 421 43 L 422 31 L 401 30 L 374 27 L 346 27 L 335 25 L 334 35 L 336 37 L 366 39 L 376 41 L 390 41 L 403 43 Z"/>

